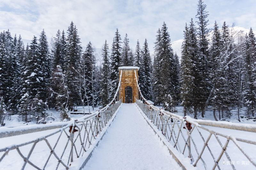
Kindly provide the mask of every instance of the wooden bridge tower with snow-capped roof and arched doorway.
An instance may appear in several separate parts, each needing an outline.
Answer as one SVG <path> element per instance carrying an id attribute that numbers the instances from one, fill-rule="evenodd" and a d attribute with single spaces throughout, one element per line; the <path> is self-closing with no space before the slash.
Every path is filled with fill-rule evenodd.
<path id="1" fill-rule="evenodd" d="M 135 102 L 135 97 L 138 99 L 138 87 L 136 83 L 136 78 L 135 78 L 135 72 L 136 71 L 136 76 L 138 79 L 138 70 L 140 69 L 139 67 L 134 67 L 134 66 L 124 66 L 124 67 L 119 67 L 119 79 L 120 79 L 120 74 L 122 70 L 122 78 L 121 78 L 121 85 L 119 89 L 119 99 L 122 99 L 123 103 L 134 103 Z M 126 93 L 129 91 L 128 90 L 132 89 L 132 96 L 128 96 Z M 128 100 L 129 97 L 129 100 Z"/>

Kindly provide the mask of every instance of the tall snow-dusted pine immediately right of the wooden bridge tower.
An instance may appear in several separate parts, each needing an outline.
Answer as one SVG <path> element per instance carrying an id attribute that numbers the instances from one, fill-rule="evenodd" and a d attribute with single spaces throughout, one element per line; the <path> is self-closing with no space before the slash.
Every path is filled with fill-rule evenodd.
<path id="1" fill-rule="evenodd" d="M 141 69 L 140 71 L 140 90 L 142 95 L 148 99 L 151 100 L 150 96 L 150 89 L 151 89 L 151 58 L 149 54 L 148 49 L 148 42 L 147 39 L 145 39 L 142 52 L 141 52 Z"/>

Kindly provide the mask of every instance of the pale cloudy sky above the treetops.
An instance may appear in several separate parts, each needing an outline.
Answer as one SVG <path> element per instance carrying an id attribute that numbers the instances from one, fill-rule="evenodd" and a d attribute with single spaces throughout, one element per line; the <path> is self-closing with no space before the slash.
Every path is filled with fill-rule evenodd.
<path id="1" fill-rule="evenodd" d="M 256 29 L 255 0 L 205 0 L 209 11 L 209 28 L 214 20 L 219 25 Z M 67 30 L 71 21 L 78 28 L 83 46 L 91 41 L 101 48 L 105 39 L 111 47 L 116 28 L 122 39 L 128 34 L 134 49 L 136 41 L 148 39 L 152 51 L 156 31 L 167 24 L 171 40 L 183 38 L 190 18 L 195 18 L 197 0 L 0 0 L 0 31 L 10 29 L 31 40 L 44 28 L 48 38 L 58 29 Z"/>

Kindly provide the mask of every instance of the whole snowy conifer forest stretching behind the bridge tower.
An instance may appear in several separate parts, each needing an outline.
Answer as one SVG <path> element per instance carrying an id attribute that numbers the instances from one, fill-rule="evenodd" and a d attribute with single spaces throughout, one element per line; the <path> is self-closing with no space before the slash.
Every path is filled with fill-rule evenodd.
<path id="1" fill-rule="evenodd" d="M 121 37 L 122 30 L 116 28 L 110 33 L 113 40 L 102 42 L 100 64 L 92 42 L 82 48 L 80 28 L 72 21 L 52 39 L 42 28 L 28 44 L 19 33 L 2 31 L 1 126 L 13 115 L 25 123 L 40 123 L 49 118 L 49 110 L 61 121 L 70 120 L 77 106 L 89 107 L 92 113 L 114 97 L 121 66 L 139 67 L 143 96 L 165 110 L 205 120 L 256 120 L 255 32 L 216 21 L 210 28 L 209 15 L 206 3 L 199 0 L 195 15 L 184 23 L 180 56 L 172 49 L 171 24 L 163 21 L 154 35 L 148 35 L 155 37 L 153 51 L 147 37 L 131 47 L 129 34 Z"/>

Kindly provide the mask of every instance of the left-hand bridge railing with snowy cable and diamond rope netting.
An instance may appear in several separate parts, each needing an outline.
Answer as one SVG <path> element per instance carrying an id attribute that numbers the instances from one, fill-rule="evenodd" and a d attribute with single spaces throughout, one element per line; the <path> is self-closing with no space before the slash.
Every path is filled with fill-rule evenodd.
<path id="1" fill-rule="evenodd" d="M 15 144 L 0 148 L 1 169 L 69 169 L 73 160 L 86 155 L 97 136 L 104 127 L 113 120 L 122 100 L 118 100 L 121 76 L 114 98 L 106 106 L 91 115 L 83 116 L 68 122 L 49 123 L 45 125 L 31 125 L 17 128 L 1 128 L 0 140 L 8 145 L 8 141 Z M 47 130 L 47 131 L 45 131 Z M 33 135 L 42 134 L 33 138 Z M 18 135 L 25 135 L 25 138 Z M 29 135 L 28 135 L 29 134 Z M 47 134 L 47 135 L 45 135 Z M 31 140 L 29 140 L 31 138 Z M 25 142 L 19 143 L 19 139 Z M 23 159 L 23 161 L 21 161 Z M 86 158 L 85 158 L 86 159 Z M 20 161 L 19 161 L 20 160 Z"/>

